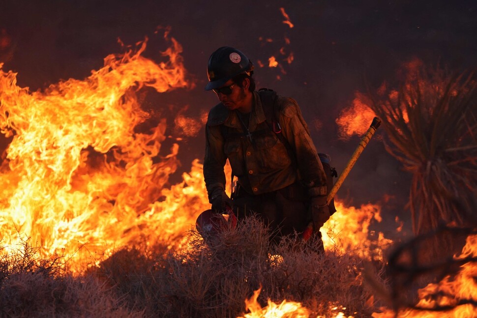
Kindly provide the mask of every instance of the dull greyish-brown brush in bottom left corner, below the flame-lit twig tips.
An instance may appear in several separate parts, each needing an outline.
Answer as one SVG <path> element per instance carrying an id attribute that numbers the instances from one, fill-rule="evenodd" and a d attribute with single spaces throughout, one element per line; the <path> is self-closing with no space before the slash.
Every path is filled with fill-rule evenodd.
<path id="1" fill-rule="evenodd" d="M 92 276 L 13 274 L 1 286 L 1 317 L 141 317 Z"/>

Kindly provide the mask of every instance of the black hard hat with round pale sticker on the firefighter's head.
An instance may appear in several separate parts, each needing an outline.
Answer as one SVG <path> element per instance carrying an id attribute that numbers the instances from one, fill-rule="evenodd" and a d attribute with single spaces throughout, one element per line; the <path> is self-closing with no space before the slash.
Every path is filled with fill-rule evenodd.
<path id="1" fill-rule="evenodd" d="M 241 73 L 252 75 L 252 71 L 253 64 L 245 54 L 228 46 L 218 48 L 209 58 L 207 65 L 209 84 L 206 90 L 219 88 Z"/>

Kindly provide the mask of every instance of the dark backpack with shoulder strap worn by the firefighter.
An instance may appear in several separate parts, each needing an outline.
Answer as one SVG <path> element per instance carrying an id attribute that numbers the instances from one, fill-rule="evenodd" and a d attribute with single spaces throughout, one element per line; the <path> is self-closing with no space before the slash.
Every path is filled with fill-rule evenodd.
<path id="1" fill-rule="evenodd" d="M 281 133 L 281 127 L 280 124 L 278 123 L 278 120 L 276 119 L 276 100 L 277 100 L 277 93 L 268 88 L 260 88 L 258 90 L 258 93 L 260 95 L 260 100 L 262 102 L 262 107 L 265 113 L 265 118 L 267 121 L 267 125 L 270 128 L 271 131 L 275 133 L 277 138 L 282 142 L 283 145 L 285 145 L 285 148 L 287 149 L 288 156 L 292 160 L 292 164 L 295 165 L 296 168 L 298 168 L 298 163 L 295 158 L 295 155 L 293 154 L 293 151 L 291 149 L 290 144 L 288 143 L 288 140 L 283 136 Z M 325 171 L 326 177 L 327 177 L 327 195 L 329 191 L 331 191 L 331 188 L 333 187 L 333 177 L 337 177 L 338 173 L 336 172 L 336 169 L 331 167 L 330 162 L 331 158 L 328 154 L 326 153 L 318 153 L 318 156 L 320 158 L 320 161 L 323 165 L 323 170 Z M 336 212 L 336 208 L 334 206 L 334 199 L 331 200 L 328 204 L 329 208 L 329 214 L 333 214 Z"/>

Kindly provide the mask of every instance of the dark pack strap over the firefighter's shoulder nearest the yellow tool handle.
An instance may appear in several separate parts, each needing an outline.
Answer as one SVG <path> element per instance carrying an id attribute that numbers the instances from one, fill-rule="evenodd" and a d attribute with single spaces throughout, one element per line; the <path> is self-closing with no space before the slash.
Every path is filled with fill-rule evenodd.
<path id="1" fill-rule="evenodd" d="M 260 88 L 258 90 L 258 93 L 260 95 L 260 100 L 262 101 L 262 107 L 266 118 L 265 121 L 267 122 L 268 128 L 270 128 L 270 130 L 275 133 L 277 138 L 285 146 L 285 148 L 287 149 L 288 157 L 290 157 L 290 160 L 292 161 L 292 165 L 295 169 L 297 169 L 298 165 L 295 153 L 293 152 L 292 146 L 290 145 L 288 140 L 285 138 L 285 136 L 283 136 L 282 128 L 280 127 L 280 123 L 276 118 L 276 103 L 278 99 L 276 91 L 269 88 Z"/>

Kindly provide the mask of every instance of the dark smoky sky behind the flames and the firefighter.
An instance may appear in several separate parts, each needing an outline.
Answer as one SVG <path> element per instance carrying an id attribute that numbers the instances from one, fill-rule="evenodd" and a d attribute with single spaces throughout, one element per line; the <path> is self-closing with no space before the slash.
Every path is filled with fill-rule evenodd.
<path id="1" fill-rule="evenodd" d="M 282 23 L 280 7 L 294 28 Z M 149 36 L 145 55 L 159 61 L 167 44 L 154 31 L 169 26 L 197 86 L 151 98 L 145 107 L 167 105 L 177 111 L 188 105 L 188 115 L 198 116 L 216 103 L 214 94 L 203 90 L 207 61 L 216 48 L 239 48 L 258 65 L 272 55 L 286 57 L 279 54 L 284 47 L 295 58 L 291 64 L 280 60 L 286 74 L 279 68 L 257 68 L 258 87 L 294 97 L 309 123 L 323 123 L 321 129 L 311 127 L 312 137 L 339 172 L 359 137 L 338 140 L 335 119 L 355 91 L 364 89 L 363 79 L 373 86 L 392 83 L 396 70 L 412 58 L 452 70 L 475 68 L 476 16 L 476 1 L 1 0 L 0 35 L 11 43 L 0 46 L 0 60 L 5 61 L 3 70 L 19 73 L 20 86 L 41 89 L 60 79 L 89 76 L 104 57 L 121 52 L 118 38 L 134 44 Z M 180 144 L 182 171 L 189 170 L 194 158 L 203 158 L 203 134 L 202 129 Z M 410 175 L 376 138 L 338 196 L 354 204 L 395 196 L 383 206 L 383 214 L 405 217 L 409 183 Z"/>

